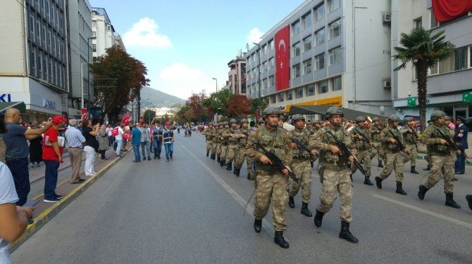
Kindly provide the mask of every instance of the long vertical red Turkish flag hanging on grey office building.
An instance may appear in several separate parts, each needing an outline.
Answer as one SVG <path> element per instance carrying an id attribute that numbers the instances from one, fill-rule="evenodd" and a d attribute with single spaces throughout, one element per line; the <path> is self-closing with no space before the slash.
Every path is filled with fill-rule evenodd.
<path id="1" fill-rule="evenodd" d="M 290 26 L 275 33 L 275 91 L 290 86 Z"/>

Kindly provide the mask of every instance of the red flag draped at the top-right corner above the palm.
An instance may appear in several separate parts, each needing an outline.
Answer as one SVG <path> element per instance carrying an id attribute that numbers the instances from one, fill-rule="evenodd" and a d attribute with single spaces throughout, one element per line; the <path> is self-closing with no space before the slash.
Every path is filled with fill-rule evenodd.
<path id="1" fill-rule="evenodd" d="M 453 20 L 472 11 L 472 0 L 433 0 L 433 12 L 437 21 Z"/>

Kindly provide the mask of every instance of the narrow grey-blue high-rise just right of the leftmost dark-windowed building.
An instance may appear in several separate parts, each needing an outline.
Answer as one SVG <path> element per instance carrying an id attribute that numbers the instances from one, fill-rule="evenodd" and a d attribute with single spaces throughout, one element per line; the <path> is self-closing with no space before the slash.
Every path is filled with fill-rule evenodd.
<path id="1" fill-rule="evenodd" d="M 87 107 L 93 76 L 89 74 L 92 63 L 92 7 L 88 0 L 68 2 L 69 48 L 70 48 L 70 93 L 69 114 L 80 114 Z M 82 98 L 84 103 L 82 105 Z M 92 98 L 91 98 L 92 100 Z"/>

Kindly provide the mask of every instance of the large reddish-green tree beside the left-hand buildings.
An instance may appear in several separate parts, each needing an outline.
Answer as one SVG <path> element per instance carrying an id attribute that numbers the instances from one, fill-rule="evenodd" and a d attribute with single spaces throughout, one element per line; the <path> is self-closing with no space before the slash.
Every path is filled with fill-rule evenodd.
<path id="1" fill-rule="evenodd" d="M 102 107 L 112 121 L 149 83 L 144 64 L 118 46 L 107 48 L 106 55 L 99 57 L 90 70 L 94 74 L 93 106 Z"/>

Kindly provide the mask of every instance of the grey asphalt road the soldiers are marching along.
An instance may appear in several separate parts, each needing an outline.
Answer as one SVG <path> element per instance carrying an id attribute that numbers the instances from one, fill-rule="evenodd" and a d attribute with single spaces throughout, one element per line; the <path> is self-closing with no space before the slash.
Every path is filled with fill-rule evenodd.
<path id="1" fill-rule="evenodd" d="M 254 184 L 205 157 L 199 133 L 177 135 L 173 161 L 131 160 L 132 153 L 13 252 L 14 263 L 472 263 L 470 173 L 456 182 L 459 210 L 444 206 L 442 185 L 419 201 L 423 175 L 405 173 L 402 196 L 395 177 L 378 190 L 356 173 L 351 230 L 359 244 L 337 237 L 338 201 L 316 228 L 297 196 L 285 250 L 272 241 L 271 213 L 254 232 L 252 202 L 243 209 Z M 320 189 L 314 178 L 312 211 Z"/>

